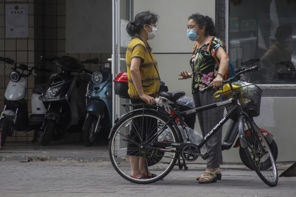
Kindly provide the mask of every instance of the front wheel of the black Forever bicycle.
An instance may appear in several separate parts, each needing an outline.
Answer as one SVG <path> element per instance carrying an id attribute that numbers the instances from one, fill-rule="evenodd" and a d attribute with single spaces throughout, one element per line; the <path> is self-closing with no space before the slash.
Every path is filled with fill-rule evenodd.
<path id="1" fill-rule="evenodd" d="M 278 171 L 266 138 L 246 116 L 242 115 L 239 121 L 240 133 L 245 133 L 247 147 L 244 150 L 250 164 L 264 183 L 276 186 Z"/>

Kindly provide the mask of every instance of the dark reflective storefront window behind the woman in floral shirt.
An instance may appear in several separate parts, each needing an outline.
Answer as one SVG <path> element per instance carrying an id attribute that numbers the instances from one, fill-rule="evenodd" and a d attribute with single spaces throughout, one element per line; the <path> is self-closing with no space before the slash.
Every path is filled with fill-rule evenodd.
<path id="1" fill-rule="evenodd" d="M 253 83 L 296 84 L 296 0 L 229 0 L 229 56 Z M 252 63 L 249 61 L 248 63 Z"/>

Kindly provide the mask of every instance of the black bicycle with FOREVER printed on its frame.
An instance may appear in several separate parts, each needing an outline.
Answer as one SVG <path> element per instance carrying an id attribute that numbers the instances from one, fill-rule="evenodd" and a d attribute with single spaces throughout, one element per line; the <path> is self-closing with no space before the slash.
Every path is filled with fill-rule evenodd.
<path id="1" fill-rule="evenodd" d="M 195 161 L 198 157 L 207 159 L 209 154 L 201 154 L 201 147 L 227 120 L 232 118 L 238 121 L 240 145 L 245 150 L 249 163 L 265 184 L 270 187 L 276 186 L 278 172 L 272 152 L 266 138 L 252 118 L 254 114 L 250 114 L 252 111 L 248 111 L 244 105 L 246 98 L 243 97 L 246 96 L 244 94 L 246 93 L 246 88 L 232 85 L 233 81 L 240 74 L 254 70 L 258 70 L 258 67 L 246 68 L 235 76 L 223 81 L 222 90 L 225 85 L 228 85 L 230 91 L 222 92 L 224 100 L 220 102 L 180 112 L 176 100 L 183 97 L 185 93 L 182 91 L 175 93 L 160 92 L 160 97 L 166 98 L 175 104 L 175 115 L 168 114 L 162 107 L 151 107 L 145 104 L 142 104 L 141 108 L 128 111 L 115 122 L 109 136 L 109 155 L 114 169 L 124 179 L 137 184 L 149 184 L 161 180 L 172 170 L 180 155 L 187 162 Z M 212 87 L 208 86 L 202 92 L 210 88 Z M 242 91 L 243 89 L 245 91 Z M 224 105 L 228 106 L 228 111 L 222 120 L 204 136 L 200 143 L 197 145 L 190 143 L 182 117 Z M 123 104 L 123 106 L 139 107 L 136 104 Z M 179 130 L 175 123 L 177 117 L 181 122 L 182 131 Z M 135 134 L 140 141 L 129 135 L 131 129 L 136 131 Z M 185 141 L 182 138 L 181 132 L 185 135 Z M 170 138 L 159 141 L 158 139 L 164 133 L 170 135 Z M 135 145 L 132 151 L 137 153 L 136 156 L 145 158 L 145 179 L 137 179 L 130 176 L 131 167 L 127 156 L 127 143 Z M 154 176 L 150 176 L 150 174 L 154 174 Z"/>

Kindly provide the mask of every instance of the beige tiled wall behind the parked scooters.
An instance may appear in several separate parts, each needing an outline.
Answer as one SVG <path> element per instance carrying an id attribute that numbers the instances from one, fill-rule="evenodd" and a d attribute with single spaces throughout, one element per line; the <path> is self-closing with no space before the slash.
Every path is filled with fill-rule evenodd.
<path id="1" fill-rule="evenodd" d="M 23 0 L 17 3 L 28 3 L 28 37 L 5 37 L 5 4 L 15 1 L 0 0 L 0 57 L 9 57 L 17 63 L 28 66 L 44 66 L 59 72 L 59 68 L 49 63 L 42 63 L 40 55 L 46 57 L 72 56 L 80 61 L 91 58 L 99 58 L 107 62 L 111 53 L 75 53 L 68 54 L 65 51 L 66 38 L 66 1 L 65 0 Z M 0 111 L 3 109 L 4 91 L 9 81 L 10 70 L 5 64 L 0 63 Z M 85 65 L 87 69 L 97 70 L 97 65 Z M 34 84 L 44 83 L 50 73 L 38 73 L 37 77 L 28 78 L 28 111 L 31 113 L 31 95 Z M 4 83 L 2 83 L 2 81 Z M 29 134 L 29 135 L 28 135 Z M 7 141 L 31 141 L 33 132 L 15 132 Z"/>

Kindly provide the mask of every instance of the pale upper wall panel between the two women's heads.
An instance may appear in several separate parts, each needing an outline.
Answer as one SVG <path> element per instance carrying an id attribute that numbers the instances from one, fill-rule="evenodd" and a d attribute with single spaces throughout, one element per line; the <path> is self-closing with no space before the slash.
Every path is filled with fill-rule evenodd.
<path id="1" fill-rule="evenodd" d="M 190 53 L 187 18 L 200 13 L 214 19 L 215 0 L 134 0 L 134 15 L 147 10 L 159 15 L 157 35 L 149 41 L 153 53 Z"/>

